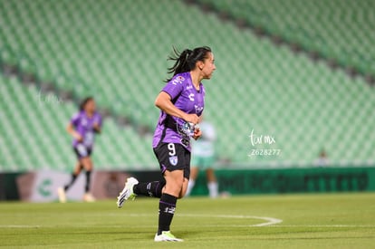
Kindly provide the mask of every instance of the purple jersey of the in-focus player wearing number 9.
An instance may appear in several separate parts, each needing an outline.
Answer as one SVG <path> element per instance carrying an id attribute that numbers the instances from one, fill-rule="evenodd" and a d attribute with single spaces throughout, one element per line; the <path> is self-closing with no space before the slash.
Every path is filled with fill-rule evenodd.
<path id="1" fill-rule="evenodd" d="M 191 81 L 190 72 L 178 73 L 162 89 L 169 94 L 175 106 L 186 113 L 200 116 L 205 106 L 205 88 L 200 83 L 199 91 Z M 169 116 L 161 110 L 152 147 L 159 142 L 178 143 L 190 150 L 190 138 L 194 128 L 185 120 Z"/>

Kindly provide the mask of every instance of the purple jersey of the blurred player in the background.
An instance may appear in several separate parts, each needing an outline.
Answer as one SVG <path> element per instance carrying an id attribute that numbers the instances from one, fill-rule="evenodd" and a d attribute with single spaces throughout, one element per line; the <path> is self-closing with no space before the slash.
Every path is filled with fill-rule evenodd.
<path id="1" fill-rule="evenodd" d="M 94 142 L 93 125 L 98 124 L 101 127 L 101 114 L 95 112 L 91 118 L 86 115 L 84 110 L 73 115 L 71 123 L 74 129 L 82 136 L 82 144 L 86 148 L 92 148 Z M 76 147 L 79 142 L 73 139 L 72 146 Z"/>

